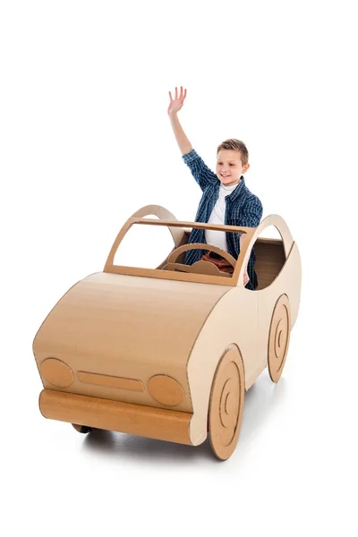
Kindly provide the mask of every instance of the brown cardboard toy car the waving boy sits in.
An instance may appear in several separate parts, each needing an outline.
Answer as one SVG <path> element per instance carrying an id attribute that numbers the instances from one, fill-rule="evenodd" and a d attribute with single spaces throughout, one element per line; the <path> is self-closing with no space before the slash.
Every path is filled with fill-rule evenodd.
<path id="1" fill-rule="evenodd" d="M 143 225 L 167 226 L 172 251 L 157 268 L 115 265 L 124 235 Z M 259 236 L 268 226 L 279 239 Z M 238 259 L 188 244 L 192 227 L 246 234 Z M 243 286 L 253 246 L 255 291 Z M 184 265 L 192 248 L 221 254 L 233 274 L 208 261 Z M 245 391 L 267 366 L 274 382 L 282 374 L 300 294 L 300 254 L 282 217 L 270 215 L 257 228 L 219 226 L 142 208 L 115 238 L 103 271 L 72 286 L 38 329 L 40 412 L 82 432 L 115 430 L 191 446 L 209 435 L 215 455 L 227 459 Z"/>

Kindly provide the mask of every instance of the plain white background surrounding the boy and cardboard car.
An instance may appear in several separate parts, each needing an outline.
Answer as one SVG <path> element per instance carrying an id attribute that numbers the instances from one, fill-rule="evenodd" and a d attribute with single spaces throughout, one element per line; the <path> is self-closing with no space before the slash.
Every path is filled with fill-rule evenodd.
<path id="1" fill-rule="evenodd" d="M 354 2 L 0 5 L 0 532 L 356 535 Z M 214 166 L 221 141 L 246 142 L 246 183 L 303 261 L 283 377 L 247 394 L 225 463 L 38 411 L 31 345 L 56 301 L 135 210 L 195 217 L 166 115 L 181 84 L 193 147 Z"/>

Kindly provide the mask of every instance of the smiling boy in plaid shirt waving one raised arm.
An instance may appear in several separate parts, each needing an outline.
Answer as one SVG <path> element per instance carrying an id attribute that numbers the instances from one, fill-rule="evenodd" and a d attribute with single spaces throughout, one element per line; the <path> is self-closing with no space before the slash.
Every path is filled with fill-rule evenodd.
<path id="1" fill-rule="evenodd" d="M 183 161 L 189 166 L 195 181 L 203 192 L 195 222 L 210 224 L 226 224 L 228 226 L 257 227 L 262 217 L 262 204 L 257 196 L 252 194 L 245 185 L 243 174 L 249 169 L 249 153 L 242 141 L 231 139 L 221 143 L 217 148 L 217 173 L 214 174 L 204 163 L 183 132 L 177 113 L 183 107 L 186 90 L 183 86 L 175 88 L 175 98 L 169 91 L 170 104 L 167 113 L 175 133 L 175 139 L 182 151 Z M 224 233 L 192 229 L 189 243 L 209 243 L 228 251 L 235 259 L 240 253 L 240 246 L 245 240 L 245 234 Z M 192 265 L 196 261 L 207 260 L 217 265 L 225 272 L 233 272 L 233 268 L 224 258 L 215 252 L 202 250 L 187 251 L 185 264 Z M 243 277 L 244 286 L 254 290 L 258 286 L 254 270 L 255 252 L 251 251 Z"/>

